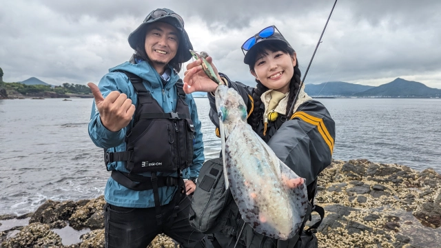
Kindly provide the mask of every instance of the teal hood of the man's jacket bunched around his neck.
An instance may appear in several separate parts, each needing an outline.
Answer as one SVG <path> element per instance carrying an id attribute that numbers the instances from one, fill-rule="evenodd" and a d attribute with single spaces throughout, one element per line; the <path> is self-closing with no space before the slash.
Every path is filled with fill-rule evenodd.
<path id="1" fill-rule="evenodd" d="M 172 68 L 172 66 L 167 66 L 170 68 L 171 75 L 165 87 L 171 88 L 176 83 L 176 81 L 178 81 L 179 75 Z M 141 79 L 149 81 L 154 88 L 163 87 L 161 76 L 159 76 L 158 72 L 156 72 L 156 70 L 152 68 L 152 65 L 150 65 L 150 63 L 148 63 L 147 61 L 141 61 L 140 63 L 136 64 L 127 61 L 125 63 L 122 63 L 121 65 L 116 65 L 114 68 L 110 68 L 109 72 L 115 72 L 117 70 L 125 70 L 126 72 L 131 72 L 136 76 L 139 76 Z"/>

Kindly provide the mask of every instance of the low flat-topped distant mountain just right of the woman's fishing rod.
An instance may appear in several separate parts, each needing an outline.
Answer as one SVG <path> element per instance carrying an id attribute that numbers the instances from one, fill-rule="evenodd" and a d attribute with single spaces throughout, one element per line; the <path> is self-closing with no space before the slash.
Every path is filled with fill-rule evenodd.
<path id="1" fill-rule="evenodd" d="M 305 84 L 305 92 L 309 96 L 352 96 L 353 94 L 364 92 L 373 87 L 374 86 L 336 81 L 320 84 Z"/>

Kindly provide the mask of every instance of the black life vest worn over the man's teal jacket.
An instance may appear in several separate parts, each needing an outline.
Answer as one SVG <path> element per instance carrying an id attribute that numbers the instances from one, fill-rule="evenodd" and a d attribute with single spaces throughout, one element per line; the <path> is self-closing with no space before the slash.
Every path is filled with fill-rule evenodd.
<path id="1" fill-rule="evenodd" d="M 176 111 L 165 113 L 161 105 L 145 89 L 143 79 L 125 73 L 138 96 L 134 125 L 126 134 L 125 152 L 105 152 L 105 164 L 125 161 L 129 173 L 113 171 L 112 178 L 134 190 L 152 189 L 151 178 L 138 175 L 143 172 L 178 172 L 192 165 L 194 125 L 185 103 L 183 83 L 178 81 Z M 156 175 L 156 173 L 152 173 Z M 175 186 L 178 178 L 157 177 L 158 187 Z"/>

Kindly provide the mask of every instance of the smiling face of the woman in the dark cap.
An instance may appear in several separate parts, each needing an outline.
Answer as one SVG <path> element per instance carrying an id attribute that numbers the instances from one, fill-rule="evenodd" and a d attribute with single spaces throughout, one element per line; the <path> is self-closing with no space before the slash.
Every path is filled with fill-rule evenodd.
<path id="1" fill-rule="evenodd" d="M 294 66 L 296 66 L 296 53 L 291 57 L 284 52 L 271 52 L 265 50 L 267 55 L 256 59 L 254 71 L 251 71 L 260 83 L 271 90 L 278 92 L 289 92 L 289 82 L 294 75 Z"/>

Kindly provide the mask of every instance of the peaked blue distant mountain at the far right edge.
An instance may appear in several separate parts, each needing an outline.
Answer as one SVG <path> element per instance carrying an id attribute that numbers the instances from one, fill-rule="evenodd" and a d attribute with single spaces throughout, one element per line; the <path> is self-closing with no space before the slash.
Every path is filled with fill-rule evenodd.
<path id="1" fill-rule="evenodd" d="M 395 79 L 378 87 L 373 87 L 364 92 L 358 92 L 353 96 L 377 96 L 377 97 L 441 97 L 441 90 L 427 87 L 422 83 Z"/>

